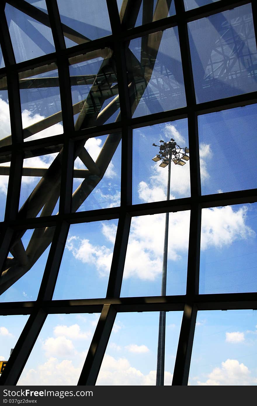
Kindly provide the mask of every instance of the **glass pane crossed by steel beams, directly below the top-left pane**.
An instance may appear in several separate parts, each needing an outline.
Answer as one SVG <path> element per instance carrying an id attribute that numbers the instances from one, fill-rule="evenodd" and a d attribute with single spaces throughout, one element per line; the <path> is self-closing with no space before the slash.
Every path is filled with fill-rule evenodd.
<path id="1" fill-rule="evenodd" d="M 26 141 L 63 134 L 58 69 L 55 63 L 19 73 Z"/>

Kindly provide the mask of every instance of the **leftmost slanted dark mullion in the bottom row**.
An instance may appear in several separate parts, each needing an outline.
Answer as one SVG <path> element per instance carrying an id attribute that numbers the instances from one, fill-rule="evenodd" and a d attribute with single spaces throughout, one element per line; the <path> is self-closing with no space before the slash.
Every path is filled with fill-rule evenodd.
<path id="1" fill-rule="evenodd" d="M 42 309 L 35 309 L 32 312 L 0 376 L 0 385 L 17 384 L 46 316 Z"/>

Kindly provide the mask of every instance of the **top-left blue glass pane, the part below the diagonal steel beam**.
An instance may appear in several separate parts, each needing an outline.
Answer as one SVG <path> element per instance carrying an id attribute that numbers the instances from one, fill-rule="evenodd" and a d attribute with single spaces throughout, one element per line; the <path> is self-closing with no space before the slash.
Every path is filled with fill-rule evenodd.
<path id="1" fill-rule="evenodd" d="M 6 4 L 5 14 L 16 62 L 55 52 L 51 29 L 41 24 L 35 7 L 35 18 Z"/>

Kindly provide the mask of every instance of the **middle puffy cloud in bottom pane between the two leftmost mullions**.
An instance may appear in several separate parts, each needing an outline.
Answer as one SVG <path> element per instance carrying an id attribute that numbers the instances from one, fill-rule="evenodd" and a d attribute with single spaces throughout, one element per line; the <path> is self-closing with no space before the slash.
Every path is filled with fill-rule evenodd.
<path id="1" fill-rule="evenodd" d="M 56 338 L 49 337 L 43 342 L 42 348 L 47 357 L 57 356 L 60 358 L 66 358 L 75 351 L 72 341 L 64 336 Z"/>

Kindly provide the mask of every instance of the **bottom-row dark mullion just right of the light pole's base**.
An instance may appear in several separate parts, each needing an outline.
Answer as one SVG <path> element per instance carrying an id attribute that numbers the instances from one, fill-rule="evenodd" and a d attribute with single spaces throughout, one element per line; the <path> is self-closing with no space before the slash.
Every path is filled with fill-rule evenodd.
<path id="1" fill-rule="evenodd" d="M 177 346 L 172 385 L 188 384 L 196 318 L 196 306 L 192 303 L 186 303 L 182 317 L 179 343 Z"/>

